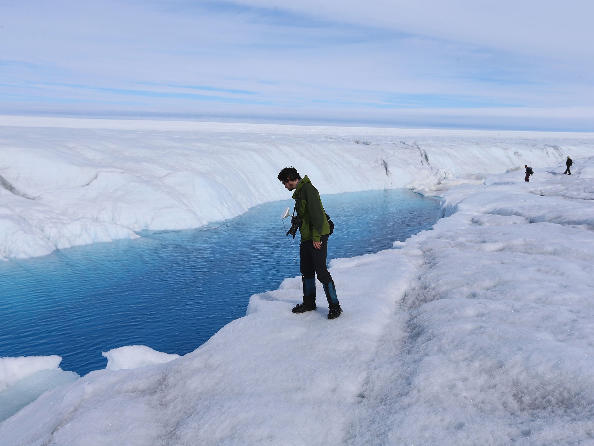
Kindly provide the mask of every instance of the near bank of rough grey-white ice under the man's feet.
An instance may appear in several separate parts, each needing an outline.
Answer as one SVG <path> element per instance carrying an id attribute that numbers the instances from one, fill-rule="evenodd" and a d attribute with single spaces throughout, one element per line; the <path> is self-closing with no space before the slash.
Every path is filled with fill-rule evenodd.
<path id="1" fill-rule="evenodd" d="M 0 424 L 3 445 L 593 444 L 594 157 L 452 187 L 434 229 L 334 259 L 162 365 L 99 370 Z"/>

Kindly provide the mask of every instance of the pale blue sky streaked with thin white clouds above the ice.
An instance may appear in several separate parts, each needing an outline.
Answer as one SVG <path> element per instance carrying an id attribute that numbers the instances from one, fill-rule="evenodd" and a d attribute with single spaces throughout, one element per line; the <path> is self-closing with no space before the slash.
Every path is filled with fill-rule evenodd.
<path id="1" fill-rule="evenodd" d="M 591 2 L 0 0 L 0 114 L 594 131 Z"/>

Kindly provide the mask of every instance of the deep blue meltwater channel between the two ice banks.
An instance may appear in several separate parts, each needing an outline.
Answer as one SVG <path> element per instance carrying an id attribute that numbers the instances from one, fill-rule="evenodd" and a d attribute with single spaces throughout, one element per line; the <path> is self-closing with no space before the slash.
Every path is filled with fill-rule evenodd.
<path id="1" fill-rule="evenodd" d="M 439 207 L 407 190 L 322 198 L 336 225 L 328 261 L 390 249 L 431 228 Z M 267 203 L 208 228 L 146 231 L 0 263 L 0 357 L 58 354 L 62 369 L 83 375 L 105 368 L 101 352 L 110 348 L 194 350 L 245 316 L 252 294 L 299 275 L 280 219 L 293 203 Z M 298 263 L 299 235 L 292 242 Z"/>

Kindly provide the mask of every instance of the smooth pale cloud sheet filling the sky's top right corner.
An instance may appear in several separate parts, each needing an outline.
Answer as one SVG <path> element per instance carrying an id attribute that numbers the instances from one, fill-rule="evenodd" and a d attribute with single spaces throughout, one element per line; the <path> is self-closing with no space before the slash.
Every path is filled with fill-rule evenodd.
<path id="1" fill-rule="evenodd" d="M 360 26 L 575 61 L 594 56 L 586 0 L 237 0 Z M 591 61 L 587 61 L 591 64 Z"/>

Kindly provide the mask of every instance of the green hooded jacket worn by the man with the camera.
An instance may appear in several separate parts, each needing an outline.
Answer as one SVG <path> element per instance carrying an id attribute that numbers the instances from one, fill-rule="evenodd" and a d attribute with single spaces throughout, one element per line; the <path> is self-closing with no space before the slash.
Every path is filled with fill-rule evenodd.
<path id="1" fill-rule="evenodd" d="M 297 215 L 302 221 L 299 225 L 301 241 L 312 239 L 320 241 L 322 235 L 330 234 L 330 225 L 324 206 L 322 206 L 320 193 L 311 184 L 307 175 L 297 184 L 297 188 L 293 192 L 293 199 L 299 204 Z"/>

